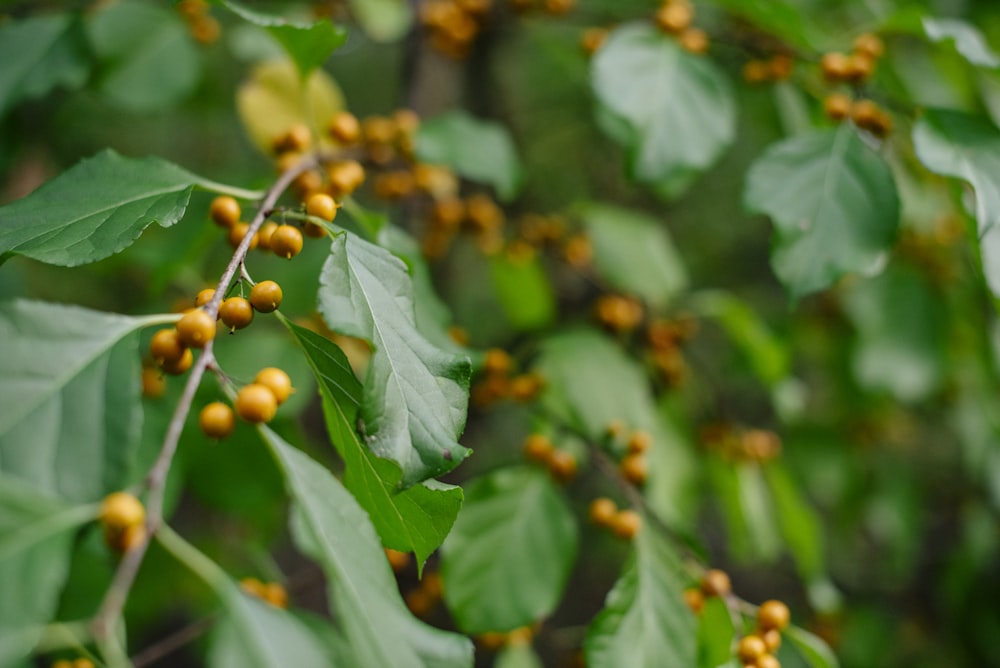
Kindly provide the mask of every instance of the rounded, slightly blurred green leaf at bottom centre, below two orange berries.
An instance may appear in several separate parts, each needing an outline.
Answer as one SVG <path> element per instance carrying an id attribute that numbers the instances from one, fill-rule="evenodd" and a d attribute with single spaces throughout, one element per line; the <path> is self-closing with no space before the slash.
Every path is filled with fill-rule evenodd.
<path id="1" fill-rule="evenodd" d="M 510 631 L 550 615 L 577 552 L 566 500 L 537 468 L 499 469 L 465 488 L 442 549 L 444 597 L 466 633 Z"/>

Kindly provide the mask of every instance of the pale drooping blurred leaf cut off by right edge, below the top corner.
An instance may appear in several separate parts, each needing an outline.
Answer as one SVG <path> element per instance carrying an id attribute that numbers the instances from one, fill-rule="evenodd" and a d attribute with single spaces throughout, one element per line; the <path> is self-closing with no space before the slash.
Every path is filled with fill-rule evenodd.
<path id="1" fill-rule="evenodd" d="M 1000 130 L 980 116 L 928 109 L 913 127 L 913 146 L 927 169 L 976 191 L 983 273 L 1000 296 Z"/>

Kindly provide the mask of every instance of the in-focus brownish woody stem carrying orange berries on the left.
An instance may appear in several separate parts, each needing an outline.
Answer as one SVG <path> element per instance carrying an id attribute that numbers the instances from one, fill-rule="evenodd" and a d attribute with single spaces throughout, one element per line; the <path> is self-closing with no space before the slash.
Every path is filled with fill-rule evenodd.
<path id="1" fill-rule="evenodd" d="M 315 161 L 312 159 L 299 161 L 282 173 L 274 185 L 264 193 L 264 197 L 257 209 L 257 214 L 254 216 L 253 222 L 250 223 L 250 228 L 247 230 L 240 245 L 236 248 L 233 257 L 226 266 L 226 270 L 219 279 L 219 284 L 215 288 L 215 294 L 212 295 L 212 301 L 205 306 L 205 312 L 210 316 L 214 318 L 218 313 L 222 297 L 232 282 L 237 269 L 239 269 L 246 258 L 253 236 L 260 229 L 260 226 L 264 224 L 264 220 L 271 212 L 271 209 L 274 208 L 278 198 L 281 197 L 281 194 L 288 189 L 299 174 L 312 168 L 314 164 Z M 228 186 L 222 187 L 228 188 Z M 242 191 L 242 193 L 251 196 L 251 198 L 257 195 L 253 191 Z M 104 595 L 104 600 L 101 601 L 101 607 L 98 608 L 97 614 L 94 616 L 92 622 L 94 637 L 102 646 L 112 638 L 114 628 L 121 618 L 125 600 L 128 598 L 128 593 L 132 588 L 133 582 L 135 582 L 135 577 L 139 572 L 139 566 L 142 564 L 146 549 L 149 547 L 149 538 L 156 535 L 163 528 L 163 495 L 167 474 L 170 472 L 170 465 L 173 462 L 174 454 L 177 452 L 177 444 L 180 442 L 184 423 L 187 420 L 188 413 L 191 412 L 191 404 L 194 401 L 195 392 L 201 383 L 202 376 L 205 374 L 205 369 L 215 362 L 215 355 L 212 353 L 213 343 L 214 341 L 209 341 L 205 345 L 201 355 L 198 356 L 198 361 L 195 362 L 194 367 L 191 369 L 191 375 L 188 376 L 187 383 L 184 385 L 184 391 L 181 394 L 180 401 L 177 403 L 177 409 L 174 411 L 174 415 L 170 419 L 170 425 L 167 427 L 167 433 L 164 436 L 160 454 L 146 476 L 148 491 L 146 503 L 147 538 L 122 556 L 118 564 L 118 569 L 115 571 L 114 578 L 111 581 L 111 586 L 108 587 L 108 591 Z M 120 648 L 118 649 L 120 650 Z"/>

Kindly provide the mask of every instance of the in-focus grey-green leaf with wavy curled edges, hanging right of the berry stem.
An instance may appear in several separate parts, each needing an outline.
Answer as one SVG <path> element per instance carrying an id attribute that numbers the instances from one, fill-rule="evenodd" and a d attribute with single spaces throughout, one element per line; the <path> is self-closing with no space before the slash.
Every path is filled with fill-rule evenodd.
<path id="1" fill-rule="evenodd" d="M 366 443 L 402 467 L 404 487 L 468 456 L 457 438 L 465 427 L 471 362 L 417 331 L 413 285 L 401 260 L 349 232 L 338 234 L 320 276 L 319 311 L 332 329 L 375 348 L 361 403 Z"/>

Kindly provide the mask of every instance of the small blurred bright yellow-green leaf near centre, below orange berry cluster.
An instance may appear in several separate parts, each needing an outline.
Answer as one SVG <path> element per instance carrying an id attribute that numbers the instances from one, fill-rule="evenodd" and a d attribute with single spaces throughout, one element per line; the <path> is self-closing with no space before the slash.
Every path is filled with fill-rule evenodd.
<path id="1" fill-rule="evenodd" d="M 518 331 L 541 329 L 556 318 L 556 296 L 537 255 L 490 258 L 490 277 L 497 301 Z"/>

